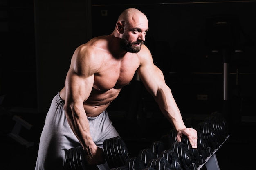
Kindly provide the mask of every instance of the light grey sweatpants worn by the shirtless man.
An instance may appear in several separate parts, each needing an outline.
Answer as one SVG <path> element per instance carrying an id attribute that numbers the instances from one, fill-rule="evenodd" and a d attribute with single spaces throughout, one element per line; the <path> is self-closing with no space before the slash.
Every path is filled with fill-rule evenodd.
<path id="1" fill-rule="evenodd" d="M 65 101 L 60 98 L 59 93 L 52 100 L 40 137 L 35 170 L 62 170 L 65 151 L 81 146 L 67 123 L 64 103 Z M 105 139 L 119 136 L 112 126 L 107 111 L 103 111 L 94 118 L 88 117 L 88 120 L 92 139 L 100 148 L 103 148 Z M 107 163 L 99 165 L 98 168 L 100 170 L 109 169 Z"/>

